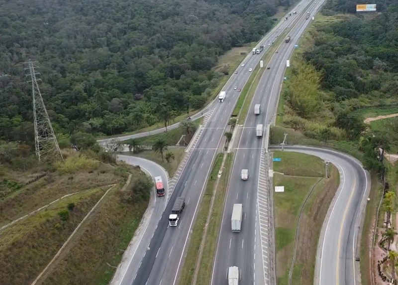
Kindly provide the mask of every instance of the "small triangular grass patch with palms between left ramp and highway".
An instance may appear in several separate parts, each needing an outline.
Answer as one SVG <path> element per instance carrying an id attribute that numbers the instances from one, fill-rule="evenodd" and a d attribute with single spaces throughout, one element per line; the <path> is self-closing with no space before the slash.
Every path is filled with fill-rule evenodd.
<path id="1" fill-rule="evenodd" d="M 175 159 L 171 160 L 170 163 L 164 159 L 162 161 L 162 157 L 160 156 L 159 153 L 155 153 L 153 150 L 144 150 L 141 151 L 140 153 L 134 154 L 134 156 L 146 158 L 149 160 L 152 160 L 159 165 L 161 165 L 163 168 L 167 170 L 169 173 L 169 177 L 173 177 L 174 173 L 176 172 L 178 166 L 180 165 L 181 161 L 184 158 L 185 152 L 184 152 L 184 147 L 170 147 L 169 151 L 173 152 Z M 123 154 L 123 153 L 122 153 Z M 126 155 L 130 155 L 130 153 L 126 152 L 124 153 Z M 166 153 L 163 153 L 163 157 L 165 157 Z"/>

